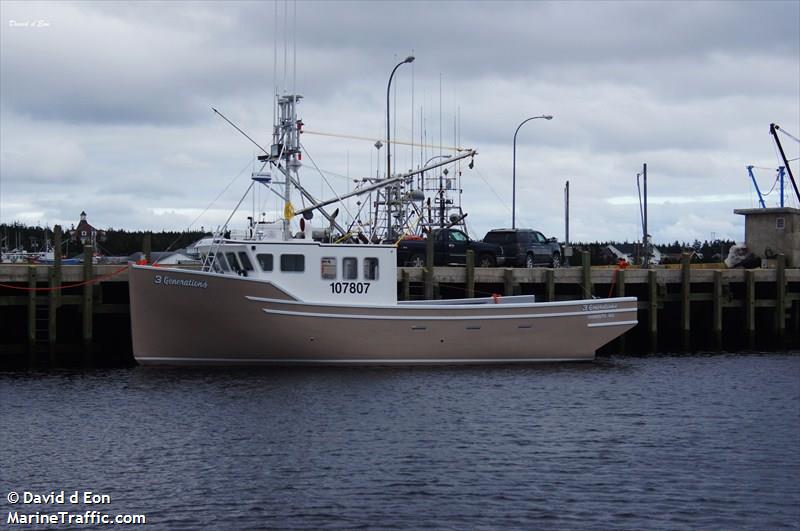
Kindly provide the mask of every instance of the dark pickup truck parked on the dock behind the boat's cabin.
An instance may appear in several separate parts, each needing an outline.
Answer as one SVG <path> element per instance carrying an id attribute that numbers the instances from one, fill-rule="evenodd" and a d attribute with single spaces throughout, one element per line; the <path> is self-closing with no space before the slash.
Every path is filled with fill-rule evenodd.
<path id="1" fill-rule="evenodd" d="M 433 230 L 434 265 L 459 264 L 467 262 L 467 251 L 475 251 L 476 267 L 503 265 L 503 248 L 499 245 L 471 240 L 459 229 Z M 397 265 L 424 267 L 427 241 L 424 239 L 403 239 L 397 244 Z"/>

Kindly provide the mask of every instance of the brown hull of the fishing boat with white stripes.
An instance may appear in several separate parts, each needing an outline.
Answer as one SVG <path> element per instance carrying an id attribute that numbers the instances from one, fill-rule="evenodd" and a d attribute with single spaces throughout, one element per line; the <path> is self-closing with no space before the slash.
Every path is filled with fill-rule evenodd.
<path id="1" fill-rule="evenodd" d="M 336 306 L 268 282 L 153 267 L 134 267 L 130 290 L 134 356 L 145 365 L 591 360 L 636 324 L 635 298 Z"/>

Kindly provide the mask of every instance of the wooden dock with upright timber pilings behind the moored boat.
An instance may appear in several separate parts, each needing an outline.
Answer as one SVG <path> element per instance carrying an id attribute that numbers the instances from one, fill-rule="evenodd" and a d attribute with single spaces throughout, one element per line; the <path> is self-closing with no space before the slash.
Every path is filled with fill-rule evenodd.
<path id="1" fill-rule="evenodd" d="M 87 251 L 87 258 L 91 250 Z M 471 258 L 471 257 L 470 257 Z M 540 301 L 639 299 L 639 325 L 605 352 L 800 348 L 800 269 L 399 268 L 398 298 L 534 294 Z M 0 264 L 0 358 L 113 352 L 130 358 L 124 265 Z M 23 289 L 12 289 L 14 288 Z M 2 359 L 0 359 L 2 363 Z"/>

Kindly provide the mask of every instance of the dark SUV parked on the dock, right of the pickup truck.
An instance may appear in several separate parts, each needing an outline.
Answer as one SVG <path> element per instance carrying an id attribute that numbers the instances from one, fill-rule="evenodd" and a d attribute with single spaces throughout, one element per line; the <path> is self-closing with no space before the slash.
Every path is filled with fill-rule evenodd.
<path id="1" fill-rule="evenodd" d="M 545 238 L 544 234 L 539 231 L 494 229 L 486 233 L 483 241 L 501 246 L 508 266 L 561 266 L 562 253 L 558 240 Z"/>

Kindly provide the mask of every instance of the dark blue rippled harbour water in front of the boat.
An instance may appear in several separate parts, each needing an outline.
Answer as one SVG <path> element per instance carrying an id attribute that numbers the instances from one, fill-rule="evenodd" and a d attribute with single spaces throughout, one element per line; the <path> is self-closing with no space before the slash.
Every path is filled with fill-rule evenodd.
<path id="1" fill-rule="evenodd" d="M 800 528 L 800 353 L 8 372 L 0 414 L 4 524 L 63 489 L 148 529 Z"/>

